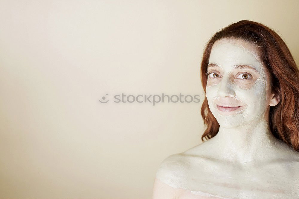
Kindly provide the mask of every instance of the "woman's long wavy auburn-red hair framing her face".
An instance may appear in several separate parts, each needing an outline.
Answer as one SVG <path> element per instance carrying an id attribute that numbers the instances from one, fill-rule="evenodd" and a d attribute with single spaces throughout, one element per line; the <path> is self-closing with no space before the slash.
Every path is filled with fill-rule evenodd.
<path id="1" fill-rule="evenodd" d="M 211 49 L 219 39 L 242 39 L 258 49 L 263 66 L 270 74 L 272 92 L 280 97 L 277 105 L 270 106 L 271 133 L 299 151 L 299 70 L 285 42 L 271 28 L 258 22 L 242 20 L 222 28 L 208 41 L 203 53 L 201 81 L 205 92 Z M 207 127 L 201 138 L 204 141 L 203 138 L 208 140 L 219 131 L 219 123 L 210 111 L 207 97 L 201 115 Z"/>

